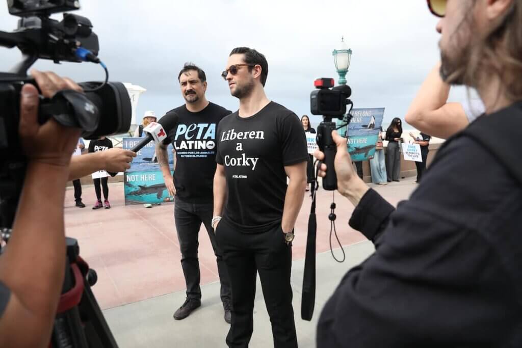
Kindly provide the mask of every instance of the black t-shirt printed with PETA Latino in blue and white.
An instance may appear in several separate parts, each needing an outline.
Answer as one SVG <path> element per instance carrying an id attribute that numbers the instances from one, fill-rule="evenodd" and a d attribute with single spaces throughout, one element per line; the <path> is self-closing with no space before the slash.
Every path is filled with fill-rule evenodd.
<path id="1" fill-rule="evenodd" d="M 163 141 L 165 145 L 172 143 L 176 151 L 176 198 L 191 203 L 212 203 L 216 172 L 216 127 L 230 113 L 224 107 L 209 103 L 199 112 L 190 112 L 186 105 L 182 105 L 163 116 L 179 116 L 178 126 Z"/>

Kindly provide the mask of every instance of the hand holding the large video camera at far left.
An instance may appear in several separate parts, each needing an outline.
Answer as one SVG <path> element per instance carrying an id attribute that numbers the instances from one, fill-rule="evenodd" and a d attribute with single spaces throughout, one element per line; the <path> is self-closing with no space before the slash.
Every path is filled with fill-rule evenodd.
<path id="1" fill-rule="evenodd" d="M 81 91 L 75 82 L 58 77 L 54 73 L 31 71 L 46 98 L 62 89 Z M 71 154 L 77 146 L 81 130 L 64 127 L 54 119 L 43 125 L 38 123 L 38 90 L 27 83 L 22 87 L 20 97 L 20 141 L 29 162 L 40 162 L 58 166 L 67 166 Z"/>

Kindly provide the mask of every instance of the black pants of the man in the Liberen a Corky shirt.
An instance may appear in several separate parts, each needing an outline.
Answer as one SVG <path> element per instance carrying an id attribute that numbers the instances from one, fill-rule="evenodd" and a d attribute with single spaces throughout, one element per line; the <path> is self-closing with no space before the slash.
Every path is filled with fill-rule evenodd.
<path id="1" fill-rule="evenodd" d="M 216 229 L 216 238 L 232 284 L 228 346 L 248 347 L 254 330 L 256 272 L 259 272 L 274 347 L 297 347 L 290 285 L 292 247 L 284 243 L 280 224 L 263 233 L 248 234 L 222 219 Z"/>

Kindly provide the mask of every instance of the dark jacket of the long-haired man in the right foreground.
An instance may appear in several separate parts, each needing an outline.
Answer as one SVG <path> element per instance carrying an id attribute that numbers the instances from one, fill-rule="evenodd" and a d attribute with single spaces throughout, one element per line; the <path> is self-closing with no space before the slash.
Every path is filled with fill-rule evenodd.
<path id="1" fill-rule="evenodd" d="M 481 117 L 397 209 L 364 195 L 350 225 L 376 251 L 326 303 L 318 347 L 522 347 L 520 129 L 522 103 Z"/>

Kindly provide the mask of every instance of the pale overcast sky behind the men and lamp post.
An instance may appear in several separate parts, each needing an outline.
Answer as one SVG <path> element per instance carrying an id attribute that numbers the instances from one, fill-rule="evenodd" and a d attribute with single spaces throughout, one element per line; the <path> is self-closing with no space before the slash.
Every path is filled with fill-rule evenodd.
<path id="1" fill-rule="evenodd" d="M 334 77 L 331 52 L 341 36 L 352 49 L 347 74 L 354 107 L 385 107 L 387 126 L 404 119 L 411 99 L 438 61 L 437 18 L 421 0 L 81 0 L 75 14 L 88 17 L 100 41 L 99 57 L 110 80 L 147 89 L 137 107 L 138 121 L 146 110 L 157 115 L 181 105 L 177 74 L 187 61 L 207 74 L 207 98 L 227 109 L 238 109 L 220 77 L 230 51 L 249 46 L 268 60 L 266 93 L 298 116 L 310 115 L 310 92 L 319 77 Z M 62 15 L 53 15 L 61 19 Z M 0 30 L 16 28 L 5 2 L 0 5 Z M 17 49 L 0 48 L 2 71 L 13 66 Z M 54 70 L 76 81 L 104 78 L 90 63 L 34 67 Z M 450 95 L 466 98 L 464 89 Z M 316 125 L 320 117 L 312 117 Z"/>

